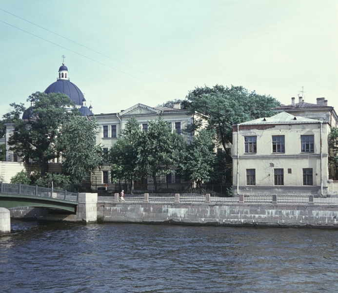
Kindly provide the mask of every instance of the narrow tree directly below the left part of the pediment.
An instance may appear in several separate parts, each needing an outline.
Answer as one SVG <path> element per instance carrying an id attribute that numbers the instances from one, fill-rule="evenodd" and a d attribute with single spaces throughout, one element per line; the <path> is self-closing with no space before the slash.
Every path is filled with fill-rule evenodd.
<path id="1" fill-rule="evenodd" d="M 120 139 L 109 150 L 111 180 L 129 181 L 133 193 L 134 180 L 138 179 L 138 148 L 142 133 L 135 118 L 128 120 Z"/>

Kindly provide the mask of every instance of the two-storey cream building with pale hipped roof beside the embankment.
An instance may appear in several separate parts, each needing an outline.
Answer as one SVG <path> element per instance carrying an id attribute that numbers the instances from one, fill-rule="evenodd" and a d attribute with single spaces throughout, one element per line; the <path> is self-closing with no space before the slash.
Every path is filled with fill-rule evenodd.
<path id="1" fill-rule="evenodd" d="M 327 122 L 286 112 L 233 126 L 235 194 L 328 194 Z"/>

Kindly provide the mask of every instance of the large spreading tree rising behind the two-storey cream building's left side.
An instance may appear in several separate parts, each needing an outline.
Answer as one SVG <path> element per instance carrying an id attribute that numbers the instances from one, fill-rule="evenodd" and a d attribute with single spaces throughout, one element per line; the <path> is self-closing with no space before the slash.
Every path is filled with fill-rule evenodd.
<path id="1" fill-rule="evenodd" d="M 198 113 L 208 121 L 208 128 L 215 129 L 219 143 L 226 148 L 232 143 L 232 125 L 260 117 L 270 117 L 276 112 L 273 107 L 280 103 L 271 96 L 258 95 L 242 86 L 197 87 L 189 92 L 182 107 L 192 114 Z M 188 131 L 200 126 L 197 120 Z"/>

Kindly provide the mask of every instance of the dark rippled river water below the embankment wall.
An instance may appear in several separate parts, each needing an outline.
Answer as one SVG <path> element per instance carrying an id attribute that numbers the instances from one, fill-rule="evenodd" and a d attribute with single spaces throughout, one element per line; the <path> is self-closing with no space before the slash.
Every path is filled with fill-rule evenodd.
<path id="1" fill-rule="evenodd" d="M 338 230 L 12 220 L 0 292 L 337 292 Z"/>

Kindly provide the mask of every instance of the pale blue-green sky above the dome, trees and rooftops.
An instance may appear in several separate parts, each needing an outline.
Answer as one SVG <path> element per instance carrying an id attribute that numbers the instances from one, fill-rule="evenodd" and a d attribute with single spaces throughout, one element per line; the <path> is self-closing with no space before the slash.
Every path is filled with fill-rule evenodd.
<path id="1" fill-rule="evenodd" d="M 0 0 L 0 119 L 62 63 L 95 114 L 242 85 L 338 109 L 338 0 Z"/>

